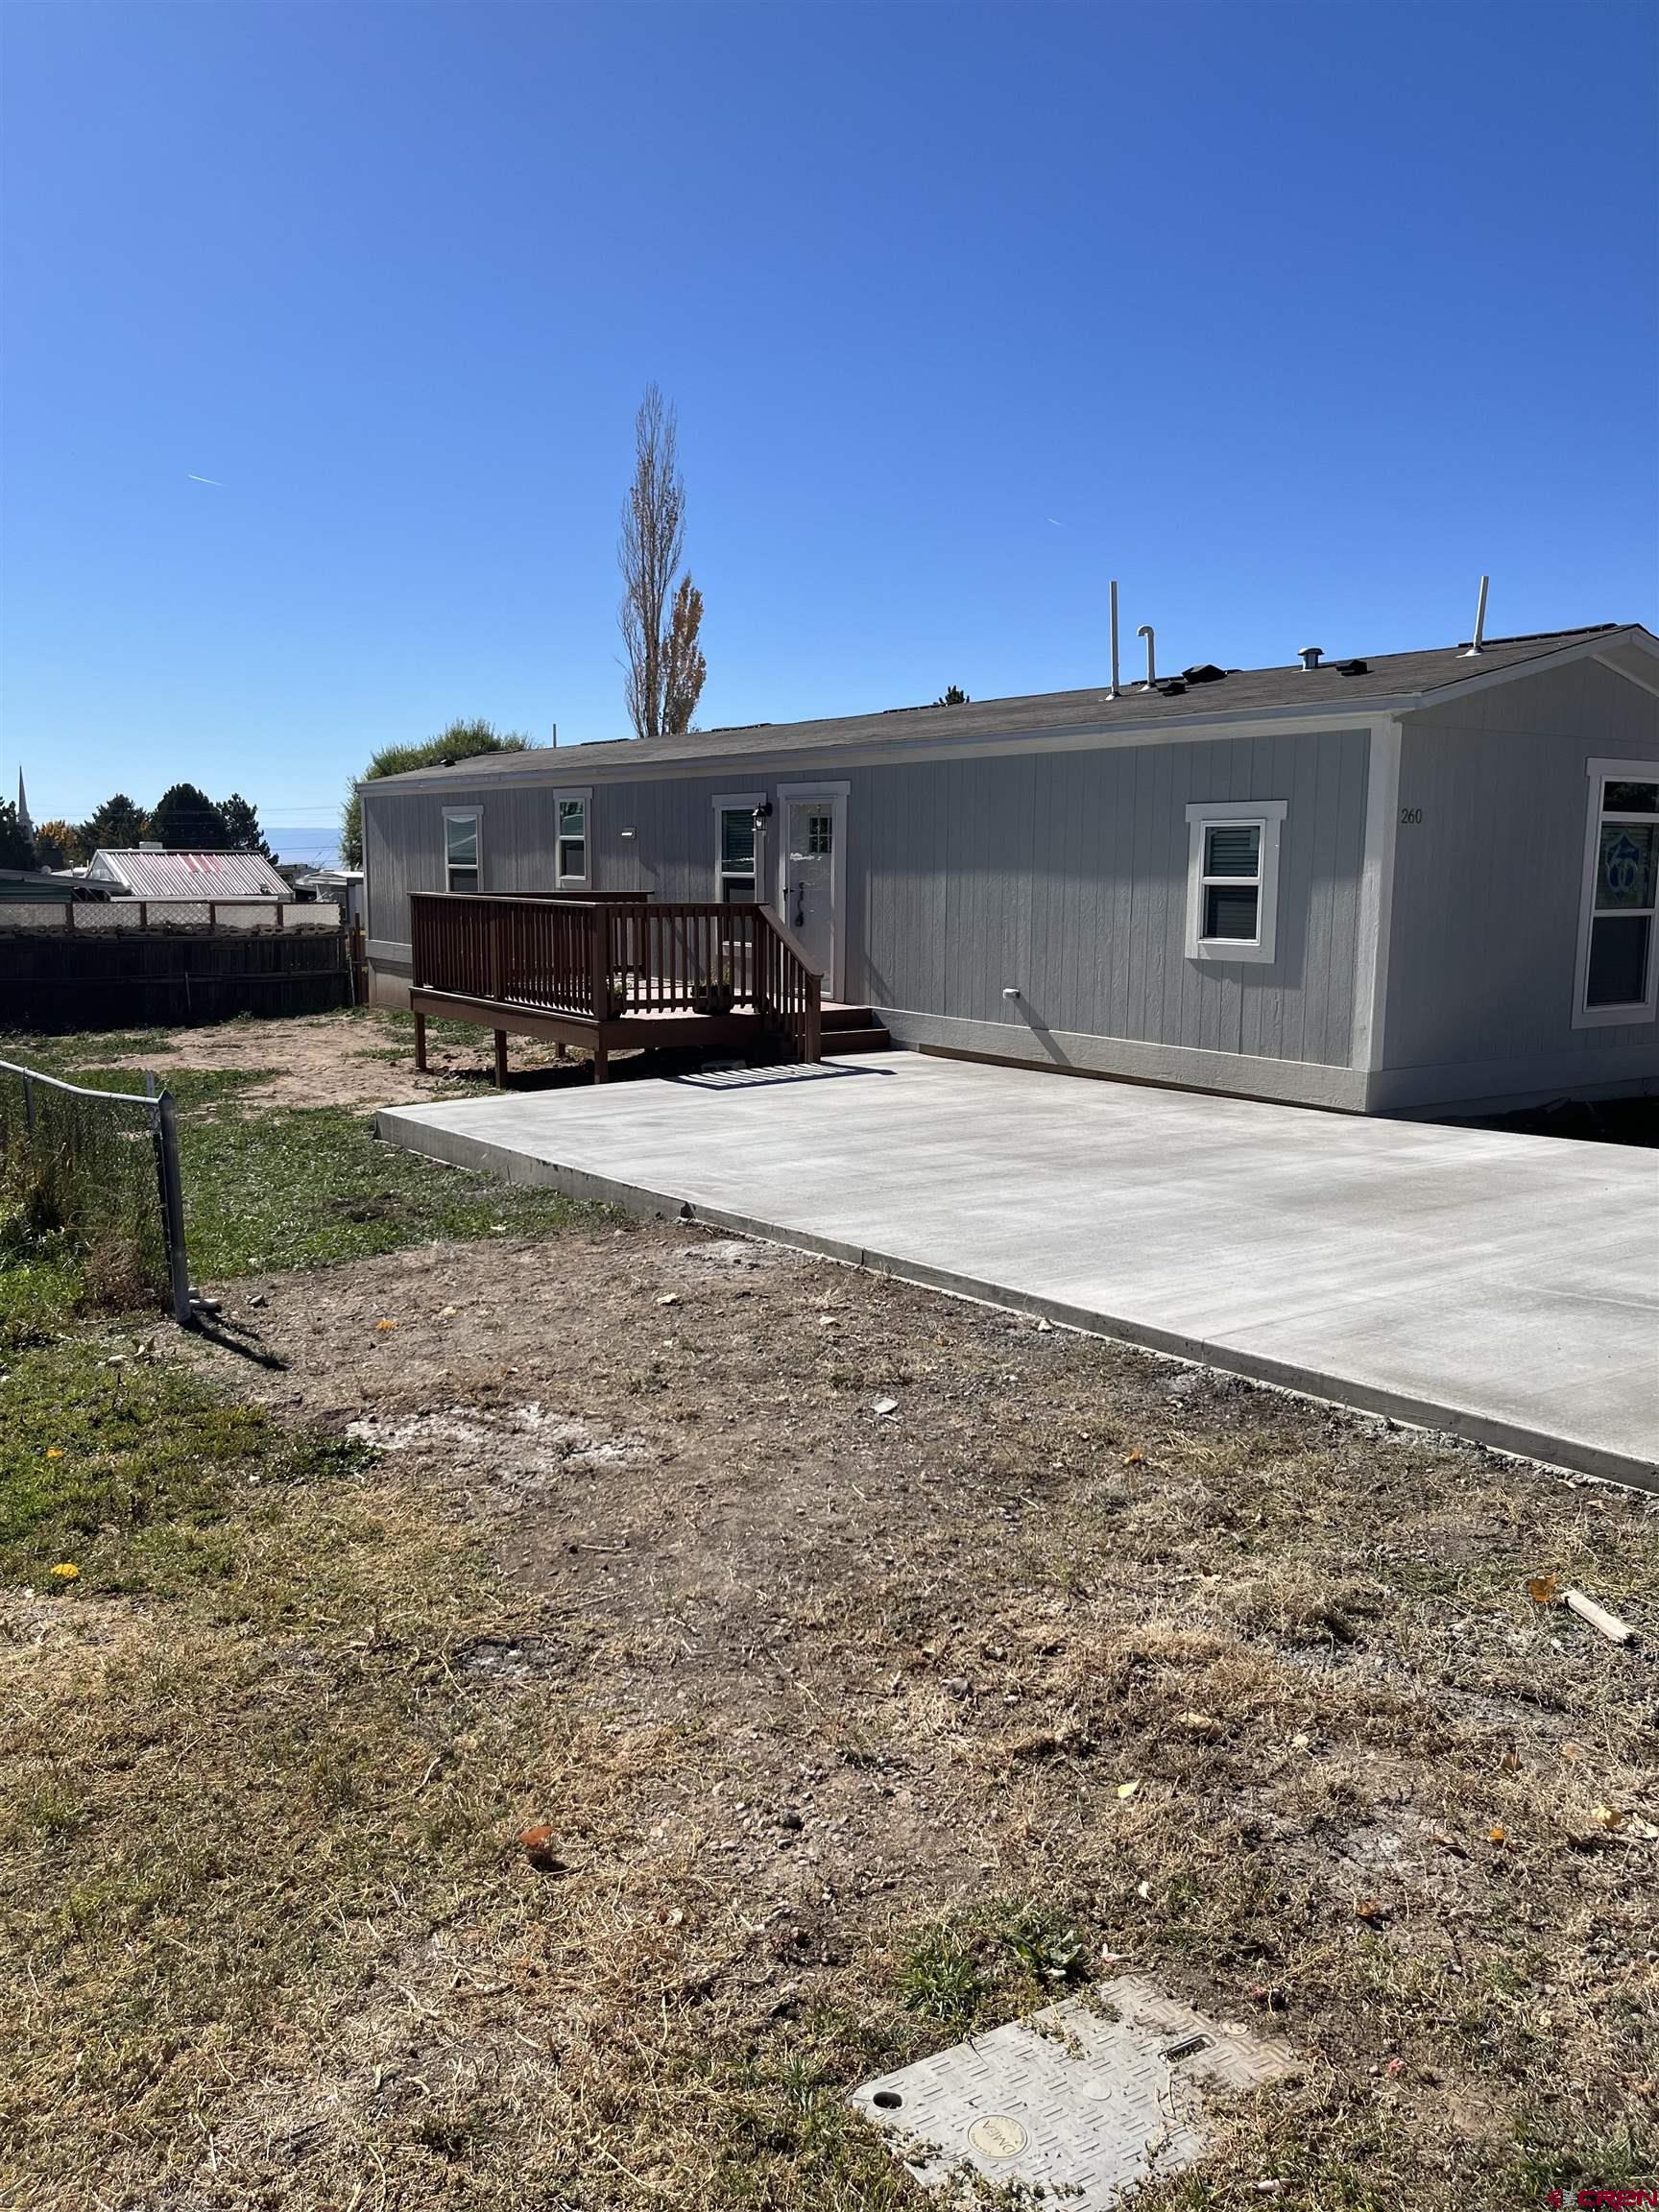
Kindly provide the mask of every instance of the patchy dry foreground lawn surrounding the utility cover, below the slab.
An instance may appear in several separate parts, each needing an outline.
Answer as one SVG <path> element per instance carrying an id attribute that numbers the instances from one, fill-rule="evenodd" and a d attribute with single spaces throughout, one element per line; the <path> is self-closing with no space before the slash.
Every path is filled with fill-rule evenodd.
<path id="1" fill-rule="evenodd" d="M 1148 2212 L 1652 2181 L 1639 1500 L 697 1230 L 226 1305 L 0 1402 L 7 2203 L 918 2205 L 1102 1955 L 1303 2059 Z"/>

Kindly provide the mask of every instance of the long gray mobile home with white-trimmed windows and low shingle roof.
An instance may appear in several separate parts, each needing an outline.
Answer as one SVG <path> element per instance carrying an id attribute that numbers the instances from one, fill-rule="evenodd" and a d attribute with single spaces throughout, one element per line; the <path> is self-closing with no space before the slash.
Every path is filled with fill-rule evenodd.
<path id="1" fill-rule="evenodd" d="M 411 894 L 635 891 L 772 907 L 909 1046 L 1360 1113 L 1659 1088 L 1637 624 L 358 790 L 378 1004 L 409 1000 Z"/>

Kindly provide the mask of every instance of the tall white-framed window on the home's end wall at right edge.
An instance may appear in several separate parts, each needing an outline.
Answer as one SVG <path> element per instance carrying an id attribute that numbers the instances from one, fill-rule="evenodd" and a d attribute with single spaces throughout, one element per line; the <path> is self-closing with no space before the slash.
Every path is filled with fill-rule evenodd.
<path id="1" fill-rule="evenodd" d="M 1655 1018 L 1659 761 L 1590 761 L 1575 1029 Z"/>

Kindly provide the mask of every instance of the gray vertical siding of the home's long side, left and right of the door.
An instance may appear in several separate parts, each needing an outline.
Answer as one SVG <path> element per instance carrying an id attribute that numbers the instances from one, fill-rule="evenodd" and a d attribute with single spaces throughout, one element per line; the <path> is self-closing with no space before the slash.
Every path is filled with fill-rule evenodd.
<path id="1" fill-rule="evenodd" d="M 1365 730 L 1332 730 L 841 770 L 852 783 L 847 995 L 998 1024 L 1011 1055 L 1033 1053 L 1035 1026 L 1347 1066 L 1367 743 Z M 568 776 L 582 783 L 580 750 Z M 599 783 L 593 887 L 712 898 L 714 794 L 774 794 L 776 783 L 763 768 Z M 1272 964 L 1186 958 L 1186 807 L 1206 799 L 1287 801 Z M 484 812 L 484 889 L 553 883 L 551 787 L 500 779 L 369 794 L 378 945 L 407 942 L 409 891 L 442 889 L 445 805 Z"/>

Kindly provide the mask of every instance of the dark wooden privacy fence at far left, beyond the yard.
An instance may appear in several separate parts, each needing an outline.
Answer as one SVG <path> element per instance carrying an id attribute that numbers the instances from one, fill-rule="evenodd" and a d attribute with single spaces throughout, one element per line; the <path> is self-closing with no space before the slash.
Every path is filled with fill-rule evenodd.
<path id="1" fill-rule="evenodd" d="M 93 936 L 0 918 L 0 1029 L 188 1029 L 349 1004 L 343 929 Z"/>

